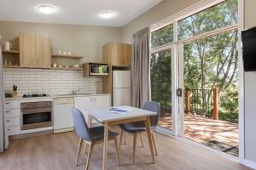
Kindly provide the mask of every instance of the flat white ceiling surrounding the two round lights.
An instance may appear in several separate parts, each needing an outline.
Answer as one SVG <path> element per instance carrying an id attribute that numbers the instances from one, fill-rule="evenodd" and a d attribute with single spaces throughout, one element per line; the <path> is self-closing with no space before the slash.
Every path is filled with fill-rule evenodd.
<path id="1" fill-rule="evenodd" d="M 162 0 L 1 0 L 0 20 L 40 23 L 124 26 Z M 52 14 L 41 14 L 35 8 L 50 4 Z M 116 15 L 102 19 L 102 11 L 113 10 Z"/>

